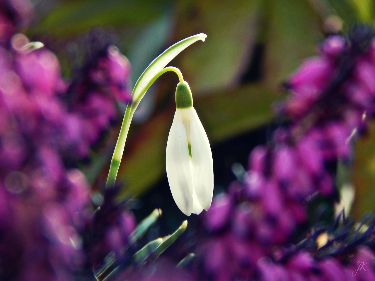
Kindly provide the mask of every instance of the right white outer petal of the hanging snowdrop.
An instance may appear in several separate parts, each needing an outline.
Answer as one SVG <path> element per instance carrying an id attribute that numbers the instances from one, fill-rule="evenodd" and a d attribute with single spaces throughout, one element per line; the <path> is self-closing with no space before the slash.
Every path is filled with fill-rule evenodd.
<path id="1" fill-rule="evenodd" d="M 208 210 L 211 206 L 213 194 L 213 161 L 211 147 L 195 109 L 191 108 L 191 111 L 190 144 L 193 188 L 199 205 L 205 210 Z M 193 212 L 194 211 L 195 210 L 193 210 Z"/>

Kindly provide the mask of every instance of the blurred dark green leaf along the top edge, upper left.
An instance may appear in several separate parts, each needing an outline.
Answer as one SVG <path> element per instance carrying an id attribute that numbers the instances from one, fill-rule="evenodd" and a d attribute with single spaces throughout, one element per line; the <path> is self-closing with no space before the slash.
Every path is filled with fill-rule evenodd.
<path id="1" fill-rule="evenodd" d="M 82 0 L 61 1 L 34 28 L 38 33 L 74 35 L 94 26 L 139 25 L 153 21 L 170 0 Z"/>

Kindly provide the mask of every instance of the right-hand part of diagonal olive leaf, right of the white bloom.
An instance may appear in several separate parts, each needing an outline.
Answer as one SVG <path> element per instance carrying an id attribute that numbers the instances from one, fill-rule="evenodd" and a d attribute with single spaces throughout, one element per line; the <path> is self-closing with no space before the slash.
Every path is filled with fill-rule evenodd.
<path id="1" fill-rule="evenodd" d="M 276 98 L 264 85 L 247 84 L 202 97 L 194 107 L 210 139 L 223 141 L 269 122 Z"/>

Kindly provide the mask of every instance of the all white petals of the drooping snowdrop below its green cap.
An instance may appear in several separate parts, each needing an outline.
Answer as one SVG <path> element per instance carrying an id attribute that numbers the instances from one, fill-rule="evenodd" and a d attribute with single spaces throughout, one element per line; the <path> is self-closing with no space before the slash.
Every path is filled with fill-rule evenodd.
<path id="1" fill-rule="evenodd" d="M 193 107 L 176 109 L 166 144 L 165 163 L 169 186 L 178 208 L 188 216 L 208 210 L 213 194 L 212 153 Z"/>

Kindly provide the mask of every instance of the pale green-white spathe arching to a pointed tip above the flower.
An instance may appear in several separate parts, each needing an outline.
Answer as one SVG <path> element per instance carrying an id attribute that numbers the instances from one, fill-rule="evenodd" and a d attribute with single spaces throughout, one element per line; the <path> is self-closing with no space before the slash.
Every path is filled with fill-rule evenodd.
<path id="1" fill-rule="evenodd" d="M 204 41 L 206 37 L 207 35 L 204 33 L 187 37 L 170 46 L 168 49 L 162 52 L 162 54 L 157 56 L 157 58 L 150 63 L 150 65 L 145 69 L 145 71 L 138 78 L 138 81 L 135 83 L 132 93 L 132 100 L 135 101 L 142 98 L 141 95 L 144 95 L 145 91 L 147 91 L 148 83 L 154 78 L 156 73 L 162 70 L 175 56 L 177 56 L 192 43 L 198 40 Z"/>

